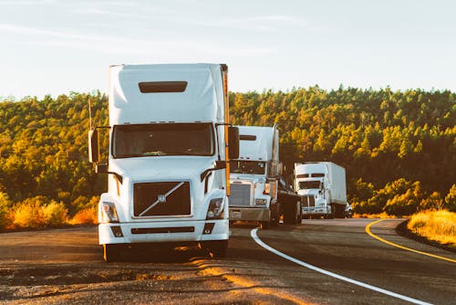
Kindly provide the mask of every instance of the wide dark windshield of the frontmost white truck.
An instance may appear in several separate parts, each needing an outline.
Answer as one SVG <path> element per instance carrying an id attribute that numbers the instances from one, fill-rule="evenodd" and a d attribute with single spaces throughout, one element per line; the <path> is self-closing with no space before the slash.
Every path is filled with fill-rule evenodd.
<path id="1" fill-rule="evenodd" d="M 161 155 L 212 155 L 211 123 L 117 125 L 112 134 L 115 158 Z"/>

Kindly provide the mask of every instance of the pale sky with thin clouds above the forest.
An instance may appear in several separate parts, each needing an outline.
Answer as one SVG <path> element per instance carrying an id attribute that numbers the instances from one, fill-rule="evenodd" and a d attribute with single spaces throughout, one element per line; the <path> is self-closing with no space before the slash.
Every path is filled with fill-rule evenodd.
<path id="1" fill-rule="evenodd" d="M 450 89 L 456 1 L 0 0 L 0 99 L 108 90 L 114 64 L 226 63 L 229 89 Z"/>

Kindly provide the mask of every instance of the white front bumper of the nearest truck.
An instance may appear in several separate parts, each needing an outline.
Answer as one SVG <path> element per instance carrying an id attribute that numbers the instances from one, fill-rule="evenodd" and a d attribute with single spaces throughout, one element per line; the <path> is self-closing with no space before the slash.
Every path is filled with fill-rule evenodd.
<path id="1" fill-rule="evenodd" d="M 98 225 L 98 243 L 134 244 L 227 240 L 228 219 Z"/>

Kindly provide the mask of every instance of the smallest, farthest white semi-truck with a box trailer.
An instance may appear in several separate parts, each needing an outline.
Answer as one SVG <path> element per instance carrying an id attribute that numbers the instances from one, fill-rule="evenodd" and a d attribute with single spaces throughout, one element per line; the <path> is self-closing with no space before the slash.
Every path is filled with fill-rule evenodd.
<path id="1" fill-rule="evenodd" d="M 295 190 L 303 195 L 303 217 L 344 217 L 345 168 L 331 162 L 295 163 Z"/>

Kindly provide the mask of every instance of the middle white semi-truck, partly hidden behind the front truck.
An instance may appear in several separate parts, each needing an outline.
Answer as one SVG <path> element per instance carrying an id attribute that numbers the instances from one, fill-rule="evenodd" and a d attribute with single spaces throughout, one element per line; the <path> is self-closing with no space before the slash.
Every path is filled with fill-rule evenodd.
<path id="1" fill-rule="evenodd" d="M 297 195 L 282 187 L 279 161 L 279 131 L 276 125 L 236 126 L 239 158 L 231 160 L 230 220 L 258 222 L 263 228 L 285 222 L 300 222 Z"/>

